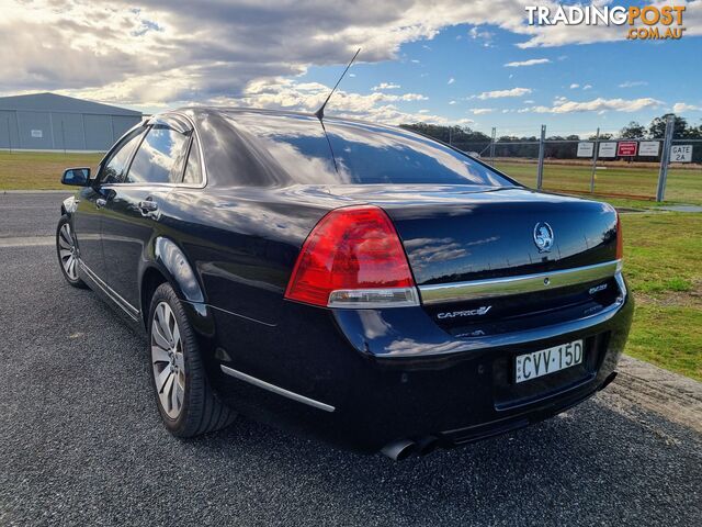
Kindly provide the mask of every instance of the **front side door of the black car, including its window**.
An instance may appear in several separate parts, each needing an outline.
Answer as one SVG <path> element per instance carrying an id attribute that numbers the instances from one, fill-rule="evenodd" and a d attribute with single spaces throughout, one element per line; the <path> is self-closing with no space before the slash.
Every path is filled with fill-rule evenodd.
<path id="1" fill-rule="evenodd" d="M 105 281 L 106 278 L 101 231 L 109 189 L 126 173 L 144 132 L 145 128 L 140 126 L 125 135 L 100 164 L 95 181 L 82 189 L 78 195 L 73 231 L 78 239 L 81 264 L 88 268 L 93 279 Z"/>

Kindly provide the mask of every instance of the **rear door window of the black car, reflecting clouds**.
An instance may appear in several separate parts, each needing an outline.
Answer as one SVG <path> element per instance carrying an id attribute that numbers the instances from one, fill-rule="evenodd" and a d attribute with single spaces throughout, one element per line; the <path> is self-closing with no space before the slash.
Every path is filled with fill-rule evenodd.
<path id="1" fill-rule="evenodd" d="M 134 156 L 127 183 L 179 183 L 183 175 L 190 133 L 156 124 Z"/>

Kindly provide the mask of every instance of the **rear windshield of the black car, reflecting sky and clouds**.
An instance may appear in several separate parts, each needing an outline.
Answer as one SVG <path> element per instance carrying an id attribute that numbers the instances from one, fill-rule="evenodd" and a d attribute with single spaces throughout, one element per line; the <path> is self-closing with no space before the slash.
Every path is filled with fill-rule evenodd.
<path id="1" fill-rule="evenodd" d="M 325 136 L 309 116 L 241 113 L 227 121 L 258 150 L 251 154 L 265 159 L 269 176 L 276 166 L 273 184 L 514 186 L 460 152 L 401 130 L 329 120 Z"/>

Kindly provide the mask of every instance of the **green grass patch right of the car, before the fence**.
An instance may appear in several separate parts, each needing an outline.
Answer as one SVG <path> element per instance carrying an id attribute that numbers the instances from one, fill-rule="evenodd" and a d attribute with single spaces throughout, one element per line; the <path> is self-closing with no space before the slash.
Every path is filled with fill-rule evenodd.
<path id="1" fill-rule="evenodd" d="M 626 354 L 702 381 L 702 214 L 623 214 Z"/>

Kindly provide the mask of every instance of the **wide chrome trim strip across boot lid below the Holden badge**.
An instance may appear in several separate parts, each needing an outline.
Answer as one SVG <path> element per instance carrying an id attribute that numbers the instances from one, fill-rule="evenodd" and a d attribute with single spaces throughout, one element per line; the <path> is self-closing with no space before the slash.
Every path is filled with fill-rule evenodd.
<path id="1" fill-rule="evenodd" d="M 562 271 L 540 272 L 537 274 L 442 283 L 438 285 L 420 285 L 419 293 L 421 294 L 423 304 L 492 299 L 602 280 L 613 277 L 619 271 L 621 271 L 621 260 L 614 260 Z"/>

